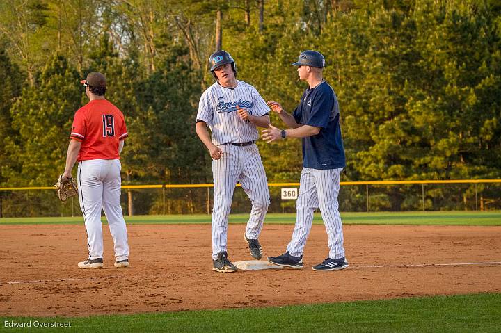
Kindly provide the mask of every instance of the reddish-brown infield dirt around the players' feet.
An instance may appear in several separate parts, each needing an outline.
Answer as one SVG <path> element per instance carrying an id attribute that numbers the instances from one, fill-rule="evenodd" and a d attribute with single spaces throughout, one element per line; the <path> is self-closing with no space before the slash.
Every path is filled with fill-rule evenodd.
<path id="1" fill-rule="evenodd" d="M 130 263 L 81 270 L 84 225 L 0 225 L 0 315 L 89 316 L 265 307 L 501 292 L 501 227 L 345 225 L 349 268 L 315 272 L 328 254 L 313 225 L 303 270 L 212 271 L 210 225 L 128 225 Z M 293 225 L 264 225 L 264 257 L 285 252 Z M 228 257 L 251 260 L 245 225 L 230 225 Z M 459 263 L 468 263 L 459 265 Z"/>

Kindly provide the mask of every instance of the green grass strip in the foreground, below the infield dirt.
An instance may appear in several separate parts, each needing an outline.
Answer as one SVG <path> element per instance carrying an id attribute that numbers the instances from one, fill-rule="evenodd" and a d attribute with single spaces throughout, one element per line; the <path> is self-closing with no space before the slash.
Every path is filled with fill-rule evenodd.
<path id="1" fill-rule="evenodd" d="M 335 293 L 335 291 L 331 291 Z M 1 318 L 70 322 L 70 332 L 500 332 L 501 294 L 434 296 L 292 307 L 182 311 L 80 318 Z M 32 324 L 33 325 L 33 324 Z M 64 328 L 30 332 L 63 332 Z"/>

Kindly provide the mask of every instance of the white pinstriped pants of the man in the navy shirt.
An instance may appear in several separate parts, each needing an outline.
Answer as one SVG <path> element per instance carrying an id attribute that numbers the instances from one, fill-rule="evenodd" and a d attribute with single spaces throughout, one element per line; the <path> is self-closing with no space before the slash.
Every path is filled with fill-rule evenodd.
<path id="1" fill-rule="evenodd" d="M 310 234 L 313 212 L 320 208 L 328 236 L 329 258 L 344 257 L 343 233 L 337 195 L 343 168 L 317 170 L 303 168 L 296 201 L 296 225 L 287 251 L 294 257 L 303 255 L 306 239 Z"/>

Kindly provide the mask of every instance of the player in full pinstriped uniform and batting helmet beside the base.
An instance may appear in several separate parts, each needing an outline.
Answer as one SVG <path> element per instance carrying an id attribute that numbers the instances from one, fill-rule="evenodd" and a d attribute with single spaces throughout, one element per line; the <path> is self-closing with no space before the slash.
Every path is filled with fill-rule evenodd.
<path id="1" fill-rule="evenodd" d="M 236 79 L 237 68 L 228 52 L 215 52 L 209 62 L 216 82 L 200 97 L 196 132 L 212 157 L 213 270 L 227 273 L 237 270 L 227 253 L 228 217 L 237 182 L 252 202 L 244 239 L 250 254 L 255 259 L 262 257 L 257 238 L 270 201 L 267 177 L 255 141 L 259 138 L 256 127 L 269 126 L 269 106 L 253 86 Z"/>

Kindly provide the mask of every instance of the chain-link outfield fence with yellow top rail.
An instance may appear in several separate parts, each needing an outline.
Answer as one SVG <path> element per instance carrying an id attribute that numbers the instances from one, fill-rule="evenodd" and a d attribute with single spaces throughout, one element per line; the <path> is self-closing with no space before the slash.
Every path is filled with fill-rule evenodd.
<path id="1" fill-rule="evenodd" d="M 299 183 L 270 183 L 270 213 L 295 211 L 296 200 L 283 200 L 283 188 Z M 128 215 L 211 213 L 213 184 L 122 186 Z M 232 213 L 248 213 L 250 201 L 237 184 Z M 340 211 L 486 211 L 501 209 L 501 179 L 342 181 Z M 54 187 L 0 188 L 0 217 L 81 216 L 77 197 L 59 202 Z"/>

